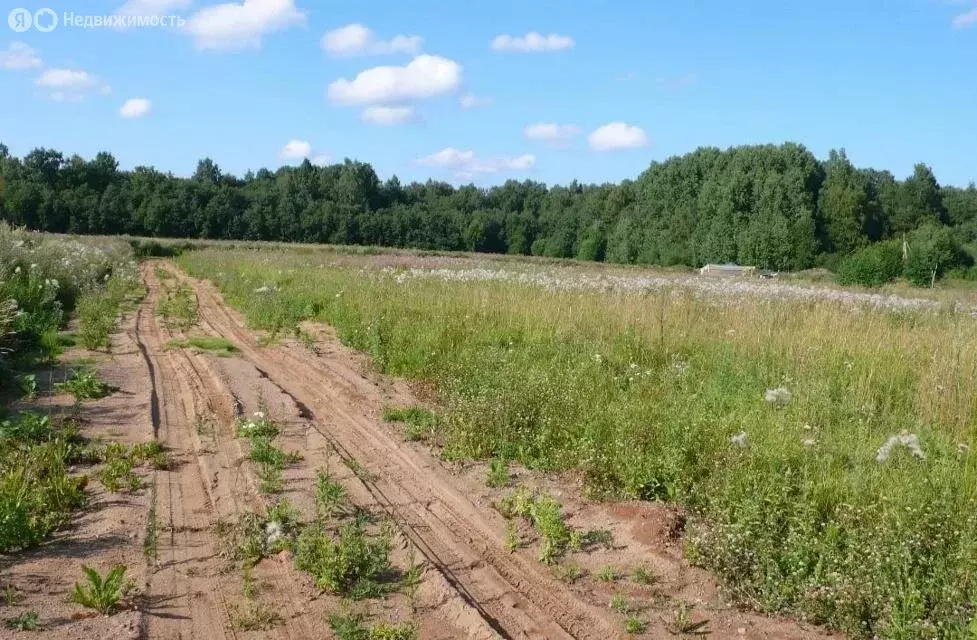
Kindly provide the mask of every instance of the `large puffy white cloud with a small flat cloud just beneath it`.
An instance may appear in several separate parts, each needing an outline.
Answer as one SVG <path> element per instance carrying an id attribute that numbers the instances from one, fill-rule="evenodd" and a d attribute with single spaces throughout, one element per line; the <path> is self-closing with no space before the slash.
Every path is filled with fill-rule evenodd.
<path id="1" fill-rule="evenodd" d="M 379 104 L 431 98 L 461 84 L 461 65 L 440 56 L 420 55 L 403 67 L 373 67 L 353 80 L 340 78 L 326 95 L 341 104 Z"/>

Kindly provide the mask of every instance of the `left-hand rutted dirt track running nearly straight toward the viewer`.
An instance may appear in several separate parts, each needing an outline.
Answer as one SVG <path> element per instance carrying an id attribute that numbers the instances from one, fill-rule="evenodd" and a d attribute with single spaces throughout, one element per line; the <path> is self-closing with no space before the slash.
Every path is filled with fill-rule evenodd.
<path id="1" fill-rule="evenodd" d="M 241 469 L 233 438 L 237 401 L 210 362 L 184 349 L 169 349 L 171 337 L 154 309 L 160 283 L 144 265 L 148 295 L 138 310 L 136 339 L 150 371 L 150 411 L 160 443 L 173 463 L 156 472 L 157 566 L 146 594 L 144 635 L 200 640 L 237 638 L 232 624 L 234 574 L 222 571 L 214 524 L 242 510 L 261 509 L 254 481 Z M 209 423 L 211 440 L 198 425 Z M 301 608 L 294 569 L 273 563 L 276 611 L 284 624 L 265 638 L 312 638 L 315 623 Z"/>

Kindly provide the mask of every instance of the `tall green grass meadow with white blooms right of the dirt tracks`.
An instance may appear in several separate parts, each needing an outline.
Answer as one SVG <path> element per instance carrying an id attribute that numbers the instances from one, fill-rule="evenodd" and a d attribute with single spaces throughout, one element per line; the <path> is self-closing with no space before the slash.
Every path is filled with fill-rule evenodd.
<path id="1" fill-rule="evenodd" d="M 433 382 L 449 457 L 681 503 L 689 557 L 749 606 L 863 637 L 970 632 L 969 316 L 405 279 L 287 252 L 180 262 L 255 327 L 327 322 L 385 371 Z M 922 455 L 897 438 L 880 461 L 903 432 Z"/>

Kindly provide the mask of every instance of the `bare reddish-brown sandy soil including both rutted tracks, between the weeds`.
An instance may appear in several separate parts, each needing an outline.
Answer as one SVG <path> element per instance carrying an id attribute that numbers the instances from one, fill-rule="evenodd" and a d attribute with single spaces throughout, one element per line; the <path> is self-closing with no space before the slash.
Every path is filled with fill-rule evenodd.
<path id="1" fill-rule="evenodd" d="M 157 269 L 157 268 L 160 269 Z M 160 280 L 162 270 L 170 277 Z M 422 638 L 627 637 L 624 615 L 608 606 L 628 598 L 647 621 L 645 637 L 676 635 L 675 612 L 684 609 L 700 630 L 718 638 L 825 637 L 822 630 L 738 611 L 711 577 L 682 557 L 683 518 L 677 510 L 648 503 L 590 503 L 572 477 L 513 470 L 509 487 L 485 486 L 484 464 L 447 464 L 437 452 L 404 440 L 380 417 L 384 407 L 430 402 L 430 394 L 377 374 L 368 359 L 343 347 L 328 327 L 307 326 L 316 348 L 269 342 L 245 329 L 216 289 L 191 279 L 169 262 L 143 265 L 148 295 L 122 325 L 111 356 L 100 356 L 100 376 L 120 387 L 109 398 L 82 407 L 86 435 L 140 442 L 155 435 L 173 463 L 149 472 L 134 495 L 92 490 L 91 507 L 72 528 L 29 553 L 0 558 L 0 583 L 24 594 L 4 606 L 5 617 L 35 608 L 42 635 L 50 638 L 324 638 L 335 597 L 319 592 L 293 566 L 287 552 L 253 571 L 257 595 L 247 598 L 239 568 L 219 554 L 215 529 L 246 511 L 262 512 L 277 497 L 257 490 L 247 445 L 234 422 L 257 410 L 284 426 L 279 446 L 301 454 L 284 474 L 283 496 L 305 516 L 314 508 L 317 470 L 327 469 L 359 509 L 396 526 L 392 561 L 404 571 L 422 567 L 413 595 L 398 592 L 356 603 L 371 620 L 414 620 Z M 163 289 L 192 286 L 197 324 L 183 332 L 155 314 Z M 227 357 L 172 348 L 190 335 L 222 336 L 239 349 Z M 49 405 L 70 399 L 45 398 Z M 607 529 L 613 543 L 569 554 L 561 566 L 579 567 L 568 580 L 537 559 L 528 527 L 521 547 L 505 549 L 506 521 L 493 504 L 516 483 L 541 488 L 564 504 L 568 522 L 580 529 Z M 155 500 L 154 500 L 155 496 Z M 156 557 L 145 558 L 150 506 L 155 505 Z M 136 589 L 127 608 L 111 617 L 79 617 L 67 602 L 81 562 L 103 570 L 130 568 Z M 614 566 L 620 578 L 597 578 Z M 650 584 L 632 579 L 642 567 Z M 241 618 L 260 605 L 280 621 L 270 629 L 245 630 Z M 0 637 L 18 634 L 0 629 Z M 681 634 L 678 634 L 681 635 Z"/>

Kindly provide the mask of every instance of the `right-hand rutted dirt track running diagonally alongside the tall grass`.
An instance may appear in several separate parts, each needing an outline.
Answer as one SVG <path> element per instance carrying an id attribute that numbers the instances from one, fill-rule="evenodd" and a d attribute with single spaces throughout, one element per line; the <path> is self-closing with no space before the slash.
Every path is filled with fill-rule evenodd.
<path id="1" fill-rule="evenodd" d="M 330 345 L 317 355 L 260 346 L 213 285 L 185 276 L 171 263 L 158 264 L 193 287 L 202 328 L 232 341 L 243 358 L 291 396 L 341 457 L 366 470 L 359 480 L 376 503 L 484 621 L 479 633 L 470 629 L 469 635 L 623 636 L 608 613 L 577 598 L 537 563 L 505 552 L 501 516 L 475 505 L 444 469 L 381 423 L 383 394 L 360 374 L 348 350 Z"/>

